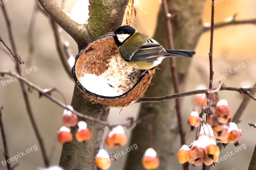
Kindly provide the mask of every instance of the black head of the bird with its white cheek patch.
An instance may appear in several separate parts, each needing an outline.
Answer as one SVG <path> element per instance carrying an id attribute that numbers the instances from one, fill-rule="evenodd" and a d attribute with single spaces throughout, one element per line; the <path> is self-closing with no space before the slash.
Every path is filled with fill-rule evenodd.
<path id="1" fill-rule="evenodd" d="M 126 41 L 129 37 L 131 37 L 136 30 L 131 26 L 124 25 L 116 29 L 114 32 L 114 39 L 116 45 L 119 47 L 121 46 L 124 41 Z"/>

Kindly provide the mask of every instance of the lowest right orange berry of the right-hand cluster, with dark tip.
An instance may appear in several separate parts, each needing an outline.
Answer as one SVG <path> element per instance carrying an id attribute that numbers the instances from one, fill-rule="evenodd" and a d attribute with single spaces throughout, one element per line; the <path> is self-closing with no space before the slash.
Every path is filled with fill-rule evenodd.
<path id="1" fill-rule="evenodd" d="M 220 148 L 217 145 L 210 144 L 204 148 L 204 164 L 211 165 L 213 162 L 219 159 Z"/>

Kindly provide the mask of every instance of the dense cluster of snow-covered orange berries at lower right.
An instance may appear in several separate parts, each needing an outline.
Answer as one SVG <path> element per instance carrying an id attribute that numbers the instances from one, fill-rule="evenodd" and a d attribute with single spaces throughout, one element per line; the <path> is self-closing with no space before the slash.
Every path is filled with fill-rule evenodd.
<path id="1" fill-rule="evenodd" d="M 203 119 L 199 117 L 198 112 L 192 111 L 188 117 L 188 124 L 191 130 L 201 126 L 200 132 L 196 140 L 190 145 L 183 145 L 177 153 L 180 164 L 186 162 L 195 166 L 202 163 L 209 166 L 219 159 L 220 148 L 216 145 L 216 141 L 227 145 L 234 143 L 239 145 L 242 137 L 241 129 L 237 125 L 230 122 L 232 112 L 228 106 L 227 100 L 220 100 L 215 108 L 215 112 L 208 118 L 207 123 L 203 124 Z M 230 123 L 229 123 L 230 122 Z"/>

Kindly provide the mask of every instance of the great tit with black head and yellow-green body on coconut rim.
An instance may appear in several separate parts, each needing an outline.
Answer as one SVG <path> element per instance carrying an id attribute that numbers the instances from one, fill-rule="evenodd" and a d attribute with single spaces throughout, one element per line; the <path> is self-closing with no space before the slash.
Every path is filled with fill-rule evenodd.
<path id="1" fill-rule="evenodd" d="M 196 53 L 189 50 L 165 50 L 156 40 L 141 34 L 134 28 L 124 25 L 115 32 L 114 37 L 119 56 L 129 66 L 145 70 L 158 66 L 165 57 L 193 57 Z"/>

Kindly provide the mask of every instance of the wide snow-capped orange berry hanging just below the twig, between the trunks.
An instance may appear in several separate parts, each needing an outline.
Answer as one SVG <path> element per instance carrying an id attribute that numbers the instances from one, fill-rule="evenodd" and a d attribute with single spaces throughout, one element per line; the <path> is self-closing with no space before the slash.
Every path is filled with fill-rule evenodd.
<path id="1" fill-rule="evenodd" d="M 124 146 L 127 143 L 127 137 L 124 132 L 124 128 L 120 125 L 116 126 L 112 131 L 109 132 L 106 138 L 106 144 L 110 148 L 116 148 Z"/>

